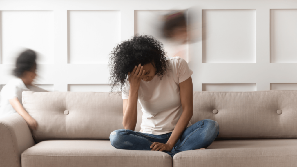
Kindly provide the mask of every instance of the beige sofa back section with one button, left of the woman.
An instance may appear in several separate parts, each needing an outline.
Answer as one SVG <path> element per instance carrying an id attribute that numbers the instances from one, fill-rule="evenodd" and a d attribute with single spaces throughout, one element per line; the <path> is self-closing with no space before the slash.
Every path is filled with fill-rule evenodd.
<path id="1" fill-rule="evenodd" d="M 111 132 L 124 129 L 123 100 L 118 93 L 23 92 L 25 110 L 38 123 L 35 141 L 49 139 L 109 139 Z M 140 130 L 138 104 L 137 128 Z"/>

